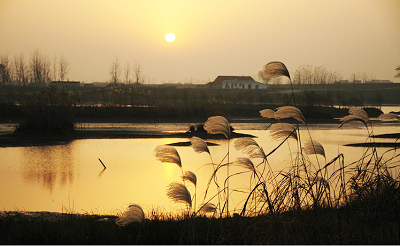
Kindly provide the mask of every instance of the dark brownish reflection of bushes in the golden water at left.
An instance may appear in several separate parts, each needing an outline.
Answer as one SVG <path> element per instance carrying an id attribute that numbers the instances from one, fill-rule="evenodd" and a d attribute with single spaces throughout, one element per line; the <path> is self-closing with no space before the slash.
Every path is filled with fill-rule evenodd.
<path id="1" fill-rule="evenodd" d="M 71 145 L 24 148 L 24 179 L 53 191 L 57 180 L 64 187 L 74 181 Z"/>

